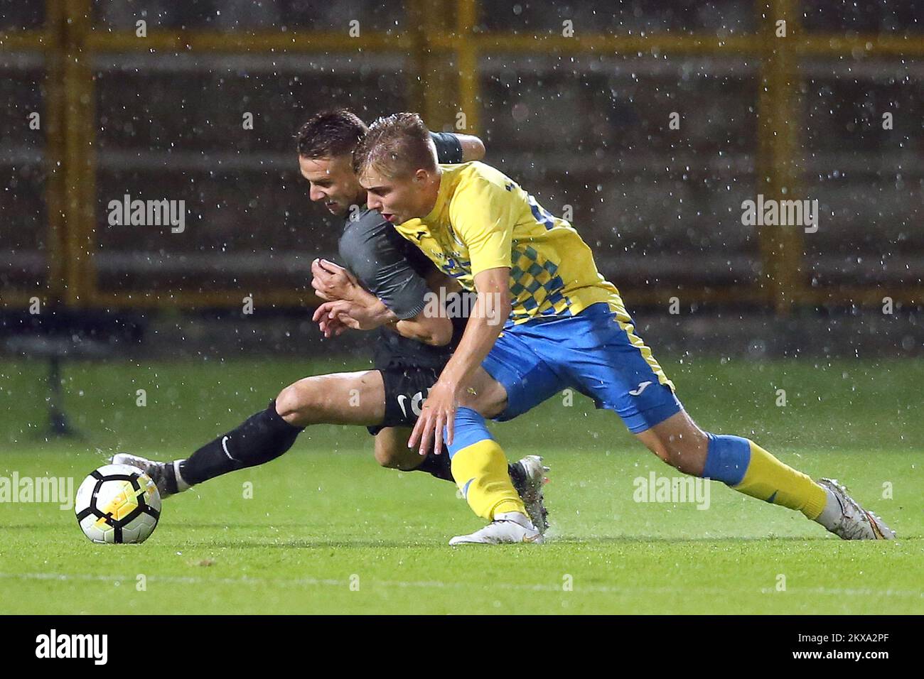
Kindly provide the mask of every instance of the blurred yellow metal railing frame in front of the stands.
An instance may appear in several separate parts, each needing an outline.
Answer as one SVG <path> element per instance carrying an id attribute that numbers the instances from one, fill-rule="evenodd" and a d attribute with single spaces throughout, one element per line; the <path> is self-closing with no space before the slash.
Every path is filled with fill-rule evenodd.
<path id="1" fill-rule="evenodd" d="M 399 52 L 409 56 L 418 71 L 408 74 L 408 92 L 433 127 L 457 127 L 464 114 L 465 131 L 480 130 L 480 55 L 487 52 L 524 54 L 635 55 L 747 55 L 760 58 L 757 94 L 757 189 L 766 198 L 793 199 L 799 194 L 797 151 L 802 115 L 799 111 L 799 58 L 806 56 L 864 55 L 924 56 L 924 40 L 895 35 L 808 34 L 798 25 L 796 0 L 765 0 L 756 6 L 757 35 L 479 33 L 479 0 L 407 0 L 408 25 L 404 36 L 363 31 L 344 33 L 287 30 L 232 31 L 152 30 L 144 40 L 134 31 L 102 30 L 91 23 L 91 0 L 48 0 L 42 30 L 0 33 L 0 50 L 38 51 L 47 60 L 46 163 L 49 219 L 47 296 L 72 307 L 155 308 L 237 306 L 240 290 L 176 290 L 145 293 L 98 289 L 91 253 L 95 243 L 96 157 L 95 101 L 91 71 L 93 55 L 115 52 L 220 53 L 353 53 Z M 786 22 L 786 37 L 774 28 Z M 455 67 L 447 68 L 448 59 Z M 455 79 L 455 84 L 453 80 Z M 749 302 L 771 305 L 786 314 L 798 304 L 878 305 L 882 294 L 874 287 L 810 288 L 804 271 L 803 235 L 798 227 L 762 227 L 760 261 L 762 285 L 696 289 L 683 297 L 694 302 Z M 34 293 L 5 291 L 5 306 L 21 304 Z M 666 303 L 674 288 L 631 291 L 635 304 Z M 312 301 L 292 290 L 261 291 L 271 304 L 298 305 Z M 924 287 L 890 290 L 896 302 L 924 302 Z"/>

